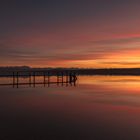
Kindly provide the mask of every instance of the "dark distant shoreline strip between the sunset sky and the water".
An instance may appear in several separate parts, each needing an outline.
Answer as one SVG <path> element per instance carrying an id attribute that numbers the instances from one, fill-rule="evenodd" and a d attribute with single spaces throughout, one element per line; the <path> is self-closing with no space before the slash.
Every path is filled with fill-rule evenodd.
<path id="1" fill-rule="evenodd" d="M 13 72 L 19 72 L 19 75 L 27 75 L 29 72 L 35 72 L 36 75 L 42 75 L 42 72 L 49 72 L 51 75 L 56 73 L 74 72 L 77 75 L 116 75 L 116 76 L 140 76 L 140 68 L 107 68 L 107 69 L 82 69 L 82 68 L 30 68 L 23 67 L 0 67 L 0 77 L 9 77 Z"/>

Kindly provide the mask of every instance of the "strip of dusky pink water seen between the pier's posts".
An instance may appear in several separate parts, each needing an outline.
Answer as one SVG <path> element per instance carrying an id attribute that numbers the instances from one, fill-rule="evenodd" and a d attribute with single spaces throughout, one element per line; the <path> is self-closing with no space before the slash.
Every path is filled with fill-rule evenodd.
<path id="1" fill-rule="evenodd" d="M 0 77 L 0 86 L 11 86 L 13 88 L 19 88 L 20 86 L 26 87 L 38 87 L 38 85 L 44 87 L 50 87 L 53 84 L 57 86 L 76 86 L 77 76 L 26 76 L 26 77 Z"/>

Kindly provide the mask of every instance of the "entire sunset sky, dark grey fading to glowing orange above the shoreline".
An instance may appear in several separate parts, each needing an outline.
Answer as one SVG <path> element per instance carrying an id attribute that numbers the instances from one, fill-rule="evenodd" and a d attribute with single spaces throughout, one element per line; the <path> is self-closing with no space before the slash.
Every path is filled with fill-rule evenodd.
<path id="1" fill-rule="evenodd" d="M 1 0 L 0 66 L 140 67 L 140 0 Z"/>

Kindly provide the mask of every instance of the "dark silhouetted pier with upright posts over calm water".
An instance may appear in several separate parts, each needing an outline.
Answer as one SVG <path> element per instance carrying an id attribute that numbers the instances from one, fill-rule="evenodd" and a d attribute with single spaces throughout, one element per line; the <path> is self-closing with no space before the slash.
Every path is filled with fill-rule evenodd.
<path id="1" fill-rule="evenodd" d="M 35 87 L 36 85 L 50 86 L 51 84 L 56 85 L 76 85 L 77 76 L 74 72 L 51 72 L 51 71 L 17 71 L 13 72 L 12 83 L 9 84 L 0 84 L 0 85 L 12 85 L 13 87 L 19 87 L 19 85 L 29 85 L 30 87 Z M 42 80 L 37 81 L 37 76 L 41 76 Z M 52 80 L 51 77 L 56 77 L 56 80 Z M 27 82 L 23 82 L 20 79 L 27 78 Z"/>

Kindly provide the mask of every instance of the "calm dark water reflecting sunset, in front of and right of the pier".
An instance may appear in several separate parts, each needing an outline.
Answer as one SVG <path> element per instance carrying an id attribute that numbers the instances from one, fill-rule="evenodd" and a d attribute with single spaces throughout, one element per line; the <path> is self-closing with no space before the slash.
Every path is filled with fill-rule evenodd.
<path id="1" fill-rule="evenodd" d="M 6 79 L 0 80 L 1 82 Z M 140 77 L 0 87 L 0 140 L 140 140 Z"/>

